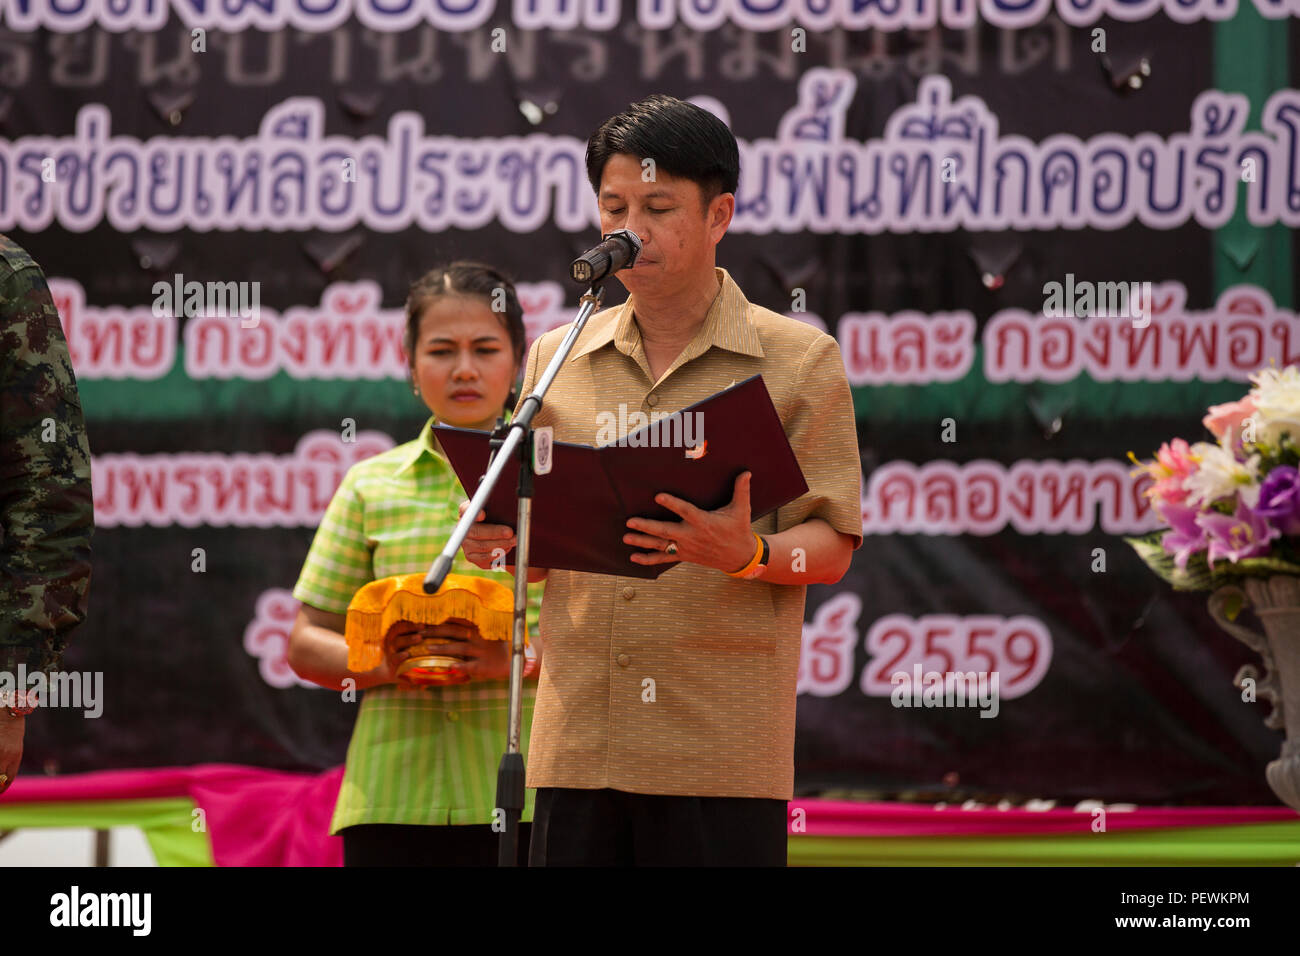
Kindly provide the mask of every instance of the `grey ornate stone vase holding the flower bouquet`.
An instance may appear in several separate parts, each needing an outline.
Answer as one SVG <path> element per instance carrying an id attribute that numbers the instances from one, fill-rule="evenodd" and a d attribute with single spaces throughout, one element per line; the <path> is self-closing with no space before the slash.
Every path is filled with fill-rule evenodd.
<path id="1" fill-rule="evenodd" d="M 1238 597 L 1264 623 L 1264 633 L 1244 627 L 1240 614 L 1228 620 L 1225 605 Z M 1232 678 L 1236 687 L 1254 680 L 1256 698 L 1268 700 L 1273 713 L 1264 724 L 1286 730 L 1282 753 L 1265 773 L 1269 786 L 1287 806 L 1300 810 L 1300 578 L 1273 575 L 1244 578 L 1242 587 L 1227 584 L 1209 600 L 1210 617 L 1230 635 L 1264 658 L 1264 676 L 1253 665 L 1243 665 Z"/>

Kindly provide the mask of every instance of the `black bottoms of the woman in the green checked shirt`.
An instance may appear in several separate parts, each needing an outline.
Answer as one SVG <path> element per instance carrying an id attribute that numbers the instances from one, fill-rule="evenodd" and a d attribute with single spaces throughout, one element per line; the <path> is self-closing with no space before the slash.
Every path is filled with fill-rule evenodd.
<path id="1" fill-rule="evenodd" d="M 519 865 L 528 865 L 532 823 L 519 825 Z M 358 823 L 338 831 L 344 866 L 495 866 L 500 834 L 489 823 Z"/>

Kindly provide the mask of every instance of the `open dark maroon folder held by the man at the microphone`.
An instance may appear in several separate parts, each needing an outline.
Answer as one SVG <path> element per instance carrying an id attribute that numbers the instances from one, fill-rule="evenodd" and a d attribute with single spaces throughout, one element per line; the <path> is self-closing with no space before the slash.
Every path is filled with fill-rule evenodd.
<path id="1" fill-rule="evenodd" d="M 462 486 L 477 488 L 488 471 L 489 433 L 451 425 L 433 431 Z M 629 518 L 681 520 L 656 505 L 655 494 L 714 511 L 750 471 L 750 519 L 757 522 L 809 489 L 758 375 L 621 440 L 599 447 L 556 441 L 551 454 L 550 473 L 537 475 L 533 485 L 530 567 L 658 578 L 675 564 L 637 564 L 630 555 L 646 549 L 623 541 Z M 489 524 L 515 527 L 517 486 L 515 455 L 488 498 Z M 515 563 L 514 549 L 506 563 Z"/>

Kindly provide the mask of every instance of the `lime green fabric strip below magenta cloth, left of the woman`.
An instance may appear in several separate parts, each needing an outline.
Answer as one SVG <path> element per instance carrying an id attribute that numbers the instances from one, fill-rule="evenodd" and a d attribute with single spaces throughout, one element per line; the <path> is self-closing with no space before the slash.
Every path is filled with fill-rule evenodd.
<path id="1" fill-rule="evenodd" d="M 0 830 L 138 826 L 159 866 L 216 866 L 207 832 L 195 832 L 188 797 L 0 804 Z"/>

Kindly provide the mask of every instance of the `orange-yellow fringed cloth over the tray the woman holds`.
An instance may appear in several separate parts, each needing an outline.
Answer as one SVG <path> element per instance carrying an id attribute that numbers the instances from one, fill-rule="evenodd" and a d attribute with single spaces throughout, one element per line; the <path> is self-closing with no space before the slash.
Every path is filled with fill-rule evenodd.
<path id="1" fill-rule="evenodd" d="M 490 578 L 448 574 L 437 594 L 424 593 L 422 574 L 381 578 L 358 591 L 347 606 L 347 669 L 361 674 L 378 667 L 384 636 L 399 620 L 471 623 L 486 640 L 508 641 L 514 619 L 515 593 Z"/>

